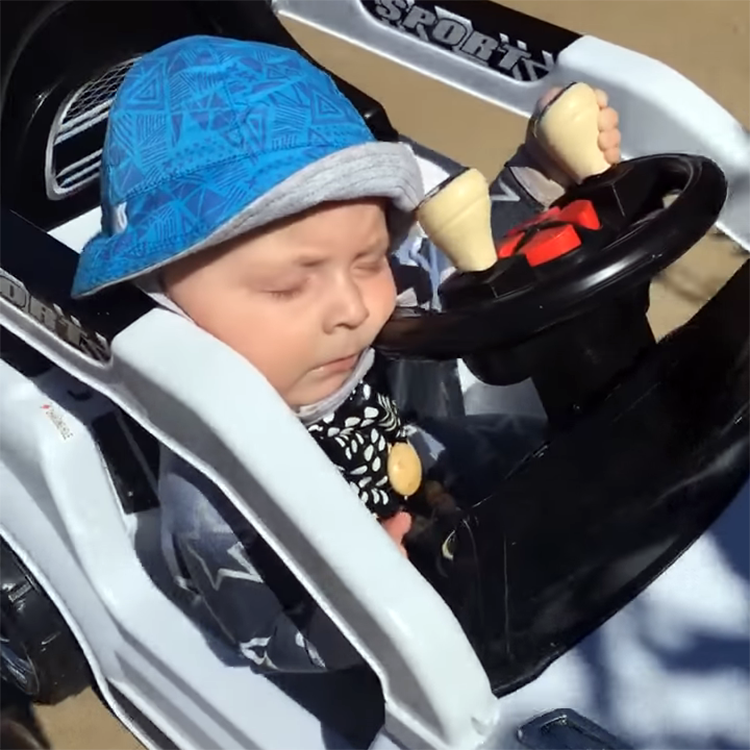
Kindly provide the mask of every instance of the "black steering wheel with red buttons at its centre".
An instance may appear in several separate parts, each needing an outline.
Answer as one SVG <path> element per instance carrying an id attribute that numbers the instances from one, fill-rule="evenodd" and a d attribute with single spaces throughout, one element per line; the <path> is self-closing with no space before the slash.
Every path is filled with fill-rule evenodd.
<path id="1" fill-rule="evenodd" d="M 726 195 L 702 156 L 623 162 L 511 231 L 488 270 L 450 276 L 441 311 L 397 309 L 376 347 L 463 359 L 494 385 L 531 378 L 550 421 L 567 421 L 654 345 L 649 284 L 706 234 Z"/>

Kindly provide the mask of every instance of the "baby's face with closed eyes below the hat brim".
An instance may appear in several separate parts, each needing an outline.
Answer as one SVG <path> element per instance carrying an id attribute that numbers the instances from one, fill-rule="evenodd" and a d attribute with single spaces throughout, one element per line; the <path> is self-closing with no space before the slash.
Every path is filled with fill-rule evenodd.
<path id="1" fill-rule="evenodd" d="M 332 203 L 197 253 L 166 293 L 292 407 L 340 388 L 393 312 L 384 203 Z"/>

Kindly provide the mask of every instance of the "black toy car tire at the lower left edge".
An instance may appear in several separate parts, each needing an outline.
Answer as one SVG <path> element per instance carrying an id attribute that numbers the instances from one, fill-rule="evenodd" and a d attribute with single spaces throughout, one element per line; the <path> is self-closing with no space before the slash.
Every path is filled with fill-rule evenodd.
<path id="1" fill-rule="evenodd" d="M 0 680 L 44 704 L 76 695 L 91 681 L 88 663 L 57 608 L 2 540 Z M 0 747 L 6 746 L 0 742 Z"/>

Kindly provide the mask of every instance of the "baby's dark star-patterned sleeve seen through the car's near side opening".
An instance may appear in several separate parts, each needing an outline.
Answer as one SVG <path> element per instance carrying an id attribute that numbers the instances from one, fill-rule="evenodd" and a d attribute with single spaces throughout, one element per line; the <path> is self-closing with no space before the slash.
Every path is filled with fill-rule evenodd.
<path id="1" fill-rule="evenodd" d="M 216 486 L 166 453 L 159 481 L 173 576 L 260 672 L 361 663 L 338 628 Z"/>

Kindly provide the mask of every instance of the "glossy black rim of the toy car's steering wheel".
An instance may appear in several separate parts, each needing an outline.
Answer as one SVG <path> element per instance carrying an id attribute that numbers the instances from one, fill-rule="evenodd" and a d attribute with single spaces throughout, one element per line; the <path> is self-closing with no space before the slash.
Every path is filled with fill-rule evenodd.
<path id="1" fill-rule="evenodd" d="M 674 191 L 676 198 L 664 207 Z M 375 345 L 387 356 L 453 359 L 527 341 L 649 283 L 706 234 L 726 194 L 723 172 L 703 156 L 660 154 L 622 162 L 553 204 L 564 208 L 590 200 L 610 232 L 619 213 L 624 225 L 603 247 L 582 252 L 584 246 L 545 263 L 515 289 L 491 292 L 486 301 L 439 312 L 397 308 Z M 481 297 L 479 276 L 461 276 L 476 277 Z"/>

